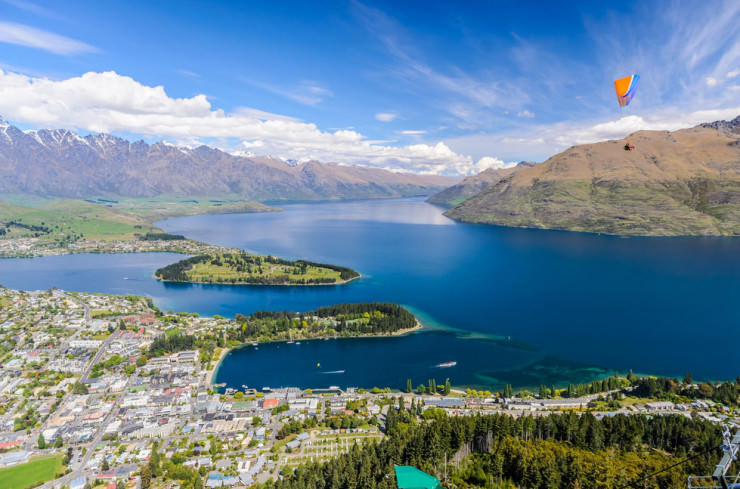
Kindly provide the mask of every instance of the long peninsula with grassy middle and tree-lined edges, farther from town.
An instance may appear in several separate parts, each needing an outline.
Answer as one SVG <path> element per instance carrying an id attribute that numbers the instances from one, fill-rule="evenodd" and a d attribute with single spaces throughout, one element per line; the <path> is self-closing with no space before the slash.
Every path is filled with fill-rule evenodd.
<path id="1" fill-rule="evenodd" d="M 252 285 L 340 284 L 360 276 L 351 268 L 246 252 L 193 256 L 160 268 L 154 275 L 165 282 Z"/>

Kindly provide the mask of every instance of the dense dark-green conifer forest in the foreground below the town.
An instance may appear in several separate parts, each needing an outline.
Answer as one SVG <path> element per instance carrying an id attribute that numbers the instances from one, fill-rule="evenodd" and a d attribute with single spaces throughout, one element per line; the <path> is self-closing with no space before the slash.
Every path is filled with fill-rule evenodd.
<path id="1" fill-rule="evenodd" d="M 299 467 L 263 487 L 390 489 L 393 465 L 408 464 L 445 487 L 673 489 L 685 487 L 690 474 L 711 473 L 721 454 L 720 427 L 683 416 L 496 414 L 417 422 L 400 406 L 389 411 L 386 428 L 390 436 L 380 443 Z"/>

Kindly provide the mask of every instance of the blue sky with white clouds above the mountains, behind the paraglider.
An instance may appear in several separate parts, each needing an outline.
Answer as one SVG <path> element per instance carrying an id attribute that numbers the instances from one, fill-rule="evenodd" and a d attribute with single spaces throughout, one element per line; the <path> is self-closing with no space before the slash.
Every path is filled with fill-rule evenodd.
<path id="1" fill-rule="evenodd" d="M 469 175 L 740 115 L 740 2 L 0 0 L 0 115 Z"/>

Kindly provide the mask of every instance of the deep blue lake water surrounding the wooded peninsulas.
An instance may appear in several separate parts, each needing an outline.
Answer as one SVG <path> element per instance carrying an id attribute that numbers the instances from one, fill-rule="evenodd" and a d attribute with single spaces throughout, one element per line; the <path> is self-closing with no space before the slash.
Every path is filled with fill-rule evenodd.
<path id="1" fill-rule="evenodd" d="M 403 338 L 237 350 L 218 375 L 236 387 L 401 387 L 407 377 L 417 384 L 435 376 L 497 388 L 585 381 L 630 368 L 700 379 L 740 374 L 740 239 L 457 224 L 420 199 L 283 208 L 160 226 L 219 245 L 346 265 L 363 278 L 327 287 L 162 284 L 152 271 L 180 257 L 149 253 L 0 260 L 0 284 L 145 294 L 163 309 L 226 316 L 391 301 L 410 307 L 427 327 Z M 458 364 L 435 367 L 446 361 Z M 322 373 L 325 366 L 345 372 Z"/>

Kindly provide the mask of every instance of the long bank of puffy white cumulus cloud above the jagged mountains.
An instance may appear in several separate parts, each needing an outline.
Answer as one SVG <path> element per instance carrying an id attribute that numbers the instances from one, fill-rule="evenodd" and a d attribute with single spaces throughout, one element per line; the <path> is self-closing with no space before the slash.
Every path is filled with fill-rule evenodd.
<path id="1" fill-rule="evenodd" d="M 205 95 L 173 98 L 162 86 L 146 86 L 112 71 L 57 81 L 0 70 L 0 114 L 37 127 L 121 131 L 190 144 L 207 138 L 227 151 L 258 149 L 301 161 L 426 174 L 468 175 L 478 169 L 470 156 L 455 153 L 443 142 L 390 146 L 354 130 L 322 131 L 312 123 L 256 109 L 227 113 L 213 108 Z M 234 139 L 239 141 L 236 147 Z"/>

